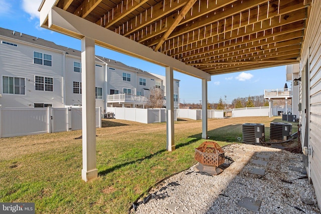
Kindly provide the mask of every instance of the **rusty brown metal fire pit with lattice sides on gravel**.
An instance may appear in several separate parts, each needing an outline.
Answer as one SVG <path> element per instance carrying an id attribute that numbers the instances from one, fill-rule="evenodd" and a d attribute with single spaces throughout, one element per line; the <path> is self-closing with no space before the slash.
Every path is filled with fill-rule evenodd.
<path id="1" fill-rule="evenodd" d="M 195 159 L 199 161 L 198 170 L 212 175 L 220 174 L 223 169 L 218 168 L 225 161 L 224 150 L 213 141 L 206 141 L 195 149 Z"/>

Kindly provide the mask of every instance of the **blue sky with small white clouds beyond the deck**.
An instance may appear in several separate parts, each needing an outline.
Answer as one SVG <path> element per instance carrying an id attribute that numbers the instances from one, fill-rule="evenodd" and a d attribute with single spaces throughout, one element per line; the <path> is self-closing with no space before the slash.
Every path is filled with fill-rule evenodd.
<path id="1" fill-rule="evenodd" d="M 80 40 L 43 29 L 39 26 L 38 7 L 41 0 L 0 0 L 0 27 L 52 41 L 57 45 L 81 50 Z M 165 76 L 165 68 L 132 58 L 108 49 L 96 47 L 96 55 L 122 62 Z M 180 72 L 174 78 L 181 80 L 181 103 L 199 103 L 202 99 L 202 81 Z M 264 94 L 264 89 L 283 88 L 286 83 L 285 66 L 212 76 L 208 82 L 208 101 L 217 103 L 227 96 L 231 103 L 237 97 Z M 290 88 L 290 83 L 287 83 Z"/>

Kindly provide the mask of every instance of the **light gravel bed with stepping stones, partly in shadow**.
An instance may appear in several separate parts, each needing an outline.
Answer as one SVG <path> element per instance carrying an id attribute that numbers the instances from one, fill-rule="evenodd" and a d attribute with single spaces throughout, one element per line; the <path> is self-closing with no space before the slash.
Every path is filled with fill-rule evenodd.
<path id="1" fill-rule="evenodd" d="M 304 177 L 304 172 L 289 169 L 304 166 L 302 154 L 248 144 L 231 144 L 223 150 L 234 162 L 221 174 L 199 172 L 197 163 L 159 183 L 150 190 L 148 198 L 138 200 L 136 211 L 132 208 L 130 212 L 320 213 L 313 185 L 307 178 L 297 179 Z M 254 159 L 267 161 L 267 165 L 253 164 Z M 265 169 L 265 174 L 251 174 L 252 168 Z M 245 197 L 261 201 L 258 211 L 237 205 Z"/>

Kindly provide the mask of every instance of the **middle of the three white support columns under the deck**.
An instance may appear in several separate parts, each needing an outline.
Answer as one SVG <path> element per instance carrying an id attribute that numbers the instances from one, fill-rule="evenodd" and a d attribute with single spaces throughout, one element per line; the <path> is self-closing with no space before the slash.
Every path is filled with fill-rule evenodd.
<path id="1" fill-rule="evenodd" d="M 166 67 L 166 133 L 168 151 L 175 150 L 174 142 L 174 78 L 173 68 Z"/>

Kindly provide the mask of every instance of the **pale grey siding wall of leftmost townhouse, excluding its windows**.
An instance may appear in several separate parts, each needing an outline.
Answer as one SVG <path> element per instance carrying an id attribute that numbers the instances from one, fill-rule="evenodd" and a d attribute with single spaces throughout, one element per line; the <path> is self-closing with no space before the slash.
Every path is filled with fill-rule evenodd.
<path id="1" fill-rule="evenodd" d="M 63 53 L 2 37 L 0 41 L 18 45 L 0 42 L 0 105 L 34 107 L 34 103 L 47 103 L 55 108 L 63 107 Z M 51 55 L 52 66 L 34 64 L 34 51 Z M 3 76 L 25 78 L 25 95 L 3 94 Z M 36 91 L 35 76 L 53 78 L 53 91 Z"/>

